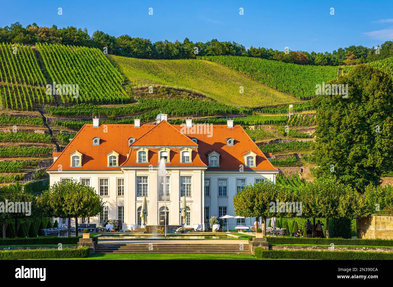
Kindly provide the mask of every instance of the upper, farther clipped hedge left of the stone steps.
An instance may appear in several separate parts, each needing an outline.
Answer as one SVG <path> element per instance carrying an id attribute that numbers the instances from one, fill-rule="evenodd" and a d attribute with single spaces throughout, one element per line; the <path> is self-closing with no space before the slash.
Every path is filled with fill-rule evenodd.
<path id="1" fill-rule="evenodd" d="M 0 239 L 0 246 L 9 245 L 56 245 L 62 244 L 77 244 L 79 242 L 78 237 L 35 237 L 35 238 L 10 238 L 10 239 Z M 92 237 L 93 241 L 98 242 L 97 237 Z"/>

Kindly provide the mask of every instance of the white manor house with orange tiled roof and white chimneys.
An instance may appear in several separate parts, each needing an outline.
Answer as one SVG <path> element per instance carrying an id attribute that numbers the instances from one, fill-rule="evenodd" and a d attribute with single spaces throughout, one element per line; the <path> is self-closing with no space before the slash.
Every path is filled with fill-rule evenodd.
<path id="1" fill-rule="evenodd" d="M 166 176 L 158 183 L 160 159 Z M 156 124 L 84 125 L 61 153 L 53 153 L 47 170 L 50 185 L 75 179 L 95 188 L 105 209 L 79 223 L 118 219 L 123 230 L 141 226 L 141 205 L 147 200 L 147 225 L 181 225 L 179 209 L 186 198 L 186 227 L 202 224 L 206 217 L 235 215 L 232 198 L 245 185 L 275 182 L 278 170 L 240 125 L 171 125 L 166 114 Z M 165 208 L 166 205 L 166 208 Z M 228 219 L 229 228 L 254 219 Z M 82 222 L 81 222 L 82 221 Z M 64 224 L 64 220 L 62 222 Z"/>

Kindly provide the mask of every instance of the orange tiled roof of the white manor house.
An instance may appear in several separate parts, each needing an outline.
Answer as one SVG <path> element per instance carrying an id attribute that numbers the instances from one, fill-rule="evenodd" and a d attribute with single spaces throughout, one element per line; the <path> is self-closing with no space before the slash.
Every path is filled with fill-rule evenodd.
<path id="1" fill-rule="evenodd" d="M 239 166 L 244 165 L 243 155 L 253 151 L 257 154 L 256 166 L 244 167 L 244 171 L 277 171 L 240 125 L 235 125 L 233 128 L 228 128 L 226 125 L 212 125 L 209 134 L 187 134 L 187 129 L 182 129 L 182 127 L 170 125 L 166 121 L 162 121 L 158 125 L 145 124 L 140 127 L 134 127 L 131 124 L 101 124 L 99 127 L 93 127 L 92 124 L 86 124 L 68 143 L 48 171 L 57 171 L 59 165 L 63 171 L 119 171 L 121 167 L 107 167 L 106 154 L 112 150 L 119 153 L 119 165 L 123 165 L 123 167 L 149 166 L 150 164 L 156 166 L 158 165 L 158 150 L 156 148 L 158 146 L 177 147 L 171 148 L 170 163 L 167 163 L 167 166 L 206 167 L 208 165 L 207 154 L 216 151 L 220 154 L 220 167 L 208 167 L 208 171 L 239 171 Z M 100 138 L 100 145 L 93 145 L 92 138 L 94 137 Z M 127 139 L 130 137 L 136 138 L 132 147 L 154 147 L 149 148 L 149 162 L 136 163 L 136 148 L 130 149 L 128 145 Z M 196 138 L 198 142 L 195 143 L 191 140 L 192 138 Z M 226 145 L 227 138 L 234 139 L 233 146 Z M 193 150 L 191 163 L 180 163 L 180 149 L 178 147 L 183 146 L 191 147 Z M 83 154 L 82 167 L 70 167 L 70 153 L 75 150 Z M 127 153 L 129 153 L 128 159 Z"/>

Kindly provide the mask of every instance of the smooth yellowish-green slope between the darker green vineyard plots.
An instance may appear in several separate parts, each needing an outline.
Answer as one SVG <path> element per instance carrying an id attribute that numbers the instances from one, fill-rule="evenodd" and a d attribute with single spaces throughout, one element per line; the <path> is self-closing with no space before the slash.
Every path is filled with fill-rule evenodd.
<path id="1" fill-rule="evenodd" d="M 108 55 L 138 87 L 166 85 L 190 89 L 228 105 L 258 107 L 298 102 L 224 65 L 205 60 L 145 60 Z M 239 93 L 240 87 L 244 93 Z"/>

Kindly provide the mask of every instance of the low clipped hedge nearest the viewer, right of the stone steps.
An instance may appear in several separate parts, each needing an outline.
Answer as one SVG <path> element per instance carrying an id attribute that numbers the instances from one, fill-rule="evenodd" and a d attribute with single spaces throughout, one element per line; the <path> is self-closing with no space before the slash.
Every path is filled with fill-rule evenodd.
<path id="1" fill-rule="evenodd" d="M 393 260 L 393 252 L 364 251 L 309 251 L 265 250 L 255 248 L 255 257 L 271 259 L 320 259 L 320 260 Z"/>

